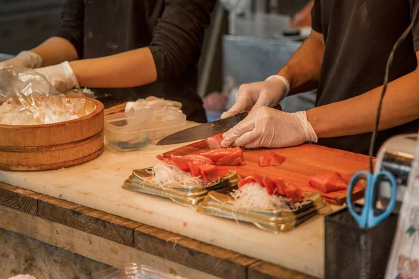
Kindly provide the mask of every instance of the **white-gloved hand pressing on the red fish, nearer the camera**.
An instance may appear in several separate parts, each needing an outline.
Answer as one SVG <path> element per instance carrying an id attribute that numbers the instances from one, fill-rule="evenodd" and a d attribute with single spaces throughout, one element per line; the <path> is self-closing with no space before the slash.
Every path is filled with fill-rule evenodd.
<path id="1" fill-rule="evenodd" d="M 317 135 L 306 112 L 286 113 L 258 107 L 223 135 L 221 146 L 286 147 L 317 142 Z"/>

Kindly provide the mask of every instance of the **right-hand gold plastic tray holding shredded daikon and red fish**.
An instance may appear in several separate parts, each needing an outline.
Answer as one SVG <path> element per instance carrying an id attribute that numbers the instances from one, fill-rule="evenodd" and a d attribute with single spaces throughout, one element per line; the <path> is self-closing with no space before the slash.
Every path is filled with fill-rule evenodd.
<path id="1" fill-rule="evenodd" d="M 308 204 L 293 211 L 257 211 L 234 206 L 234 199 L 228 195 L 235 186 L 208 193 L 198 206 L 198 212 L 207 215 L 252 223 L 274 234 L 288 232 L 309 218 L 332 213 L 332 208 L 323 201 L 319 193 L 307 194 Z"/>

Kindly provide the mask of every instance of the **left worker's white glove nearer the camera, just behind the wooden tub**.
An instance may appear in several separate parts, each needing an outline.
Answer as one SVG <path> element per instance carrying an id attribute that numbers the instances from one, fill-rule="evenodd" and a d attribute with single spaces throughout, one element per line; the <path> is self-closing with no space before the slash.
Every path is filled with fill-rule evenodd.
<path id="1" fill-rule="evenodd" d="M 75 77 L 68 61 L 54 66 L 38 68 L 36 71 L 43 75 L 59 92 L 65 92 L 74 87 L 80 88 L 77 77 Z"/>

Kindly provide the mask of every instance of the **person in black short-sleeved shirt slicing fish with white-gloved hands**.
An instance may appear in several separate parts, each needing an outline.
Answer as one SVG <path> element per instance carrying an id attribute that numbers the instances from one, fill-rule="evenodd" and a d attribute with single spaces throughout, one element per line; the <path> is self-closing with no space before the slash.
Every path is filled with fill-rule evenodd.
<path id="1" fill-rule="evenodd" d="M 397 38 L 376 141 L 419 129 L 418 0 L 315 0 L 312 32 L 277 75 L 244 84 L 223 118 L 250 110 L 222 146 L 248 148 L 318 144 L 368 153 L 385 65 Z M 318 88 L 316 107 L 287 114 L 270 107 L 287 95 Z"/>

